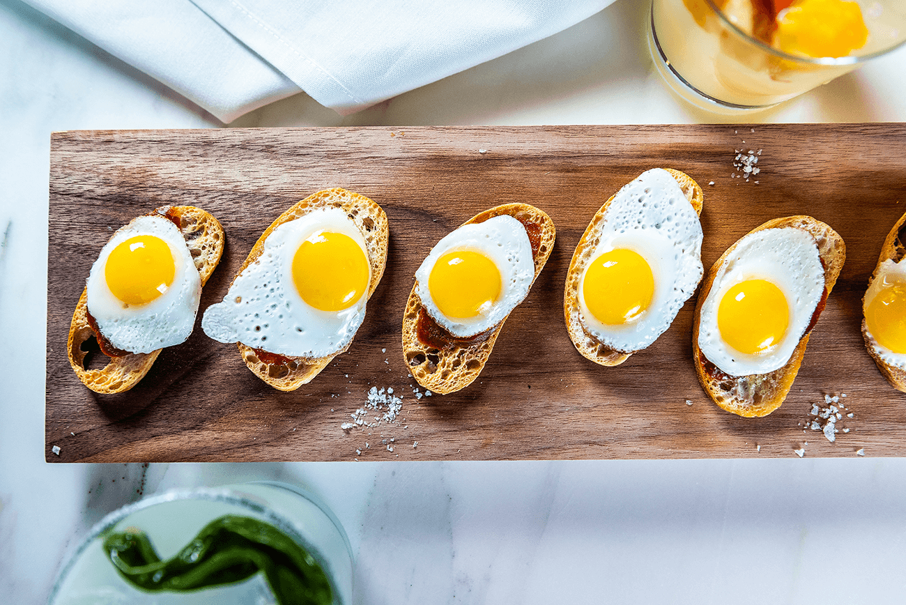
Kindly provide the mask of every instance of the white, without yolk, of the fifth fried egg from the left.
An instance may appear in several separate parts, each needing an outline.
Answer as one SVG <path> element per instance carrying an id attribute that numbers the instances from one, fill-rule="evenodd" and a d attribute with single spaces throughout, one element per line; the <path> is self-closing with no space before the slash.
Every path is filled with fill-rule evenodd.
<path id="1" fill-rule="evenodd" d="M 724 294 L 735 284 L 750 279 L 774 283 L 789 305 L 784 338 L 769 350 L 754 355 L 730 347 L 718 329 L 718 306 Z M 699 349 L 730 376 L 766 374 L 782 368 L 808 329 L 823 295 L 824 267 L 812 235 L 793 227 L 764 229 L 746 235 L 718 269 L 708 297 L 701 305 Z"/>

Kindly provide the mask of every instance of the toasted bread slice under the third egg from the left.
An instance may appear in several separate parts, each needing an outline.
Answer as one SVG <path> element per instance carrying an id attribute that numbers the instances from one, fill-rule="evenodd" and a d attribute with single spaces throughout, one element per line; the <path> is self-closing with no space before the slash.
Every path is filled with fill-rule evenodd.
<path id="1" fill-rule="evenodd" d="M 535 283 L 538 274 L 544 268 L 547 257 L 554 248 L 556 229 L 554 221 L 543 211 L 528 204 L 505 204 L 496 206 L 473 216 L 463 225 L 482 223 L 494 216 L 509 215 L 523 225 L 532 226 L 535 240 L 532 255 L 535 261 Z M 533 239 L 530 232 L 529 239 Z M 403 359 L 412 372 L 413 378 L 425 389 L 435 393 L 446 394 L 467 387 L 477 379 L 484 369 L 487 358 L 494 349 L 494 343 L 506 322 L 506 317 L 489 331 L 482 332 L 470 339 L 459 339 L 441 328 L 423 310 L 419 295 L 416 293 L 418 282 L 412 284 L 412 291 L 406 303 L 402 319 Z M 419 316 L 431 328 L 432 342 L 425 343 L 419 339 Z M 509 317 L 509 315 L 507 315 Z"/>

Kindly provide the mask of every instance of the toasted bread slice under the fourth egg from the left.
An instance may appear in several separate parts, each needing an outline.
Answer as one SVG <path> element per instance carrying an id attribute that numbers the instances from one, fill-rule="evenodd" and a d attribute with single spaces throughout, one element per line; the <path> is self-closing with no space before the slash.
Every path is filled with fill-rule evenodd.
<path id="1" fill-rule="evenodd" d="M 704 203 L 704 194 L 699 184 L 684 172 L 665 168 L 670 175 L 677 180 L 679 188 L 686 194 L 689 204 L 695 208 L 696 214 L 701 216 L 701 208 Z M 566 320 L 566 331 L 569 332 L 570 340 L 573 341 L 576 351 L 582 353 L 583 357 L 592 360 L 602 366 L 618 366 L 623 361 L 628 360 L 632 353 L 637 351 L 617 351 L 603 344 L 593 334 L 587 331 L 582 320 L 582 312 L 579 304 L 579 283 L 585 271 L 585 267 L 593 259 L 594 249 L 598 244 L 598 235 L 601 231 L 602 221 L 611 205 L 613 194 L 598 212 L 592 217 L 592 221 L 585 229 L 582 238 L 575 246 L 573 260 L 570 262 L 569 270 L 566 272 L 566 286 L 564 288 L 564 317 Z"/>

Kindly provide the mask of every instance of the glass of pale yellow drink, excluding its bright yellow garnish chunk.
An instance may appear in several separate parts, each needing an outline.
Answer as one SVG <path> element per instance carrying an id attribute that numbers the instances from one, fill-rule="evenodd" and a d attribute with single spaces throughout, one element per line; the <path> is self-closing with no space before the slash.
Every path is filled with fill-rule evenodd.
<path id="1" fill-rule="evenodd" d="M 906 2 L 858 0 L 868 29 L 862 48 L 842 57 L 785 53 L 739 25 L 752 23 L 753 6 L 771 2 L 652 0 L 648 42 L 655 67 L 670 88 L 693 105 L 745 113 L 810 91 L 906 42 Z M 742 16 L 728 12 L 740 7 Z"/>

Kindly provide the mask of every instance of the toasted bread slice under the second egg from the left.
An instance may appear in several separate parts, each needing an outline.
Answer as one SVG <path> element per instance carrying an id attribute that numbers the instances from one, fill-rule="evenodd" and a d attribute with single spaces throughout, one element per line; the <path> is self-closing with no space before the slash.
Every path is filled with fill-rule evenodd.
<path id="1" fill-rule="evenodd" d="M 371 283 L 368 284 L 368 293 L 366 295 L 371 298 L 374 289 L 381 282 L 381 275 L 384 274 L 384 267 L 387 264 L 387 248 L 390 240 L 387 215 L 384 214 L 381 206 L 378 206 L 376 202 L 368 197 L 360 196 L 340 187 L 313 193 L 311 196 L 291 206 L 282 215 L 277 216 L 276 220 L 265 229 L 265 232 L 261 234 L 261 237 L 252 246 L 252 251 L 248 253 L 246 262 L 239 267 L 236 276 L 245 271 L 246 267 L 254 263 L 258 256 L 261 255 L 265 249 L 265 239 L 275 228 L 295 218 L 304 216 L 313 210 L 326 207 L 341 208 L 352 220 L 352 223 L 359 228 L 362 237 L 365 239 L 368 261 L 371 263 Z M 233 278 L 233 281 L 236 281 L 236 277 Z M 352 343 L 352 341 L 350 342 Z M 242 342 L 237 342 L 236 346 L 239 348 L 242 360 L 246 362 L 246 366 L 249 370 L 252 370 L 255 376 L 264 380 L 271 387 L 283 391 L 295 390 L 307 384 L 321 370 L 326 368 L 334 357 L 349 349 L 347 345 L 345 349 L 337 351 L 333 355 L 305 358 L 273 354 L 265 355 Z"/>

